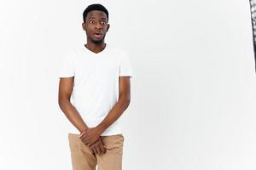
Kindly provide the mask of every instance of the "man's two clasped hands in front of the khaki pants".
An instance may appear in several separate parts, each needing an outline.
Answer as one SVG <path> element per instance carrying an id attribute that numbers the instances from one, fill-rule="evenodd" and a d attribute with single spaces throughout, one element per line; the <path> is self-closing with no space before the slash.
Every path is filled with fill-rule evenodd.
<path id="1" fill-rule="evenodd" d="M 106 146 L 102 143 L 100 134 L 97 127 L 91 127 L 80 133 L 79 138 L 85 145 L 90 147 L 95 154 L 102 155 L 106 153 Z"/>

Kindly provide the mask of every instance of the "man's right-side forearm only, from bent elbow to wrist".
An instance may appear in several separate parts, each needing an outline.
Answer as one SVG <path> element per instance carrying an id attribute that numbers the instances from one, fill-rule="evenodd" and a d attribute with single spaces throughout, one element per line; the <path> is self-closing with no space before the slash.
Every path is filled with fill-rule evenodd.
<path id="1" fill-rule="evenodd" d="M 118 120 L 119 116 L 127 109 L 130 104 L 130 99 L 120 98 L 119 101 L 113 105 L 113 108 L 108 112 L 108 115 L 104 120 L 97 126 L 103 133 L 110 125 Z"/>

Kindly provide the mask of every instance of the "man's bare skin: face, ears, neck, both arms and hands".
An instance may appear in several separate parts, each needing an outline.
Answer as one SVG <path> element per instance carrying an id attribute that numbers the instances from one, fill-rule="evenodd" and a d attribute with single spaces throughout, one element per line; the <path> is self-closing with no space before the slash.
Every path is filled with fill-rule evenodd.
<path id="1" fill-rule="evenodd" d="M 88 48 L 93 53 L 100 53 L 105 47 L 104 38 L 108 32 L 109 24 L 107 15 L 98 10 L 90 11 L 82 27 L 86 32 L 87 43 L 84 48 Z M 61 78 L 59 82 L 59 105 L 61 111 L 65 113 L 67 119 L 72 122 L 79 132 L 81 141 L 90 147 L 95 154 L 106 153 L 106 148 L 102 143 L 101 134 L 118 120 L 130 104 L 131 90 L 130 77 L 119 77 L 119 99 L 113 108 L 108 112 L 104 120 L 96 127 L 88 127 L 79 112 L 70 102 L 73 91 L 74 77 Z"/>

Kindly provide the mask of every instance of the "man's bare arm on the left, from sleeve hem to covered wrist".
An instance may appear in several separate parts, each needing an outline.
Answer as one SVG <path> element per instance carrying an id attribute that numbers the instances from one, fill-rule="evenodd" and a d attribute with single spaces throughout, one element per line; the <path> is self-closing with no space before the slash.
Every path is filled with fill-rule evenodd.
<path id="1" fill-rule="evenodd" d="M 63 111 L 63 113 L 67 116 L 67 119 L 72 122 L 73 126 L 75 126 L 81 133 L 88 127 L 84 123 L 79 112 L 73 107 L 70 102 L 72 91 L 73 77 L 60 78 L 58 102 L 61 107 L 61 111 Z"/>

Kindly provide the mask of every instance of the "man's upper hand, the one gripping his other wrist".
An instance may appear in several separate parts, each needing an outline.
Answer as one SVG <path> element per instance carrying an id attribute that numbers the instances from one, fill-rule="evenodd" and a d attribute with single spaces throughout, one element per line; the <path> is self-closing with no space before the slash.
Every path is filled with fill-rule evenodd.
<path id="1" fill-rule="evenodd" d="M 100 131 L 97 127 L 87 128 L 83 133 L 80 133 L 79 138 L 87 146 L 95 144 L 96 141 L 100 138 Z"/>

